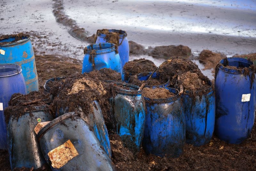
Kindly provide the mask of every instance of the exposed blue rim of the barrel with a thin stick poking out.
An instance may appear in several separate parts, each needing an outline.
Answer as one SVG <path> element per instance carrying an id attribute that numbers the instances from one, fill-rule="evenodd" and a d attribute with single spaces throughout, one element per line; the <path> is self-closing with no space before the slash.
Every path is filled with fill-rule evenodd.
<path id="1" fill-rule="evenodd" d="M 146 81 L 148 80 L 149 76 L 152 74 L 152 72 L 143 72 L 143 73 L 140 73 L 138 74 L 138 79 L 140 81 Z M 151 78 L 153 79 L 156 79 L 156 80 L 159 80 L 160 79 L 160 74 L 157 73 L 157 72 L 154 72 L 153 75 L 151 76 Z M 144 87 L 150 87 L 150 88 L 157 88 L 157 87 L 168 87 L 170 85 L 170 80 L 168 80 L 167 82 L 165 82 L 164 84 L 161 84 L 161 85 L 154 85 L 154 86 L 148 86 L 148 85 L 145 85 Z"/>

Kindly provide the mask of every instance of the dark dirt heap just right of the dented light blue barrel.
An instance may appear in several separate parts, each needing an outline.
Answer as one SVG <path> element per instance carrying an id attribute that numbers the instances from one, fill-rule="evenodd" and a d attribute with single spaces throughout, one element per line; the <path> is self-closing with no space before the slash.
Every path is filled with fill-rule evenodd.
<path id="1" fill-rule="evenodd" d="M 127 80 L 130 75 L 139 74 L 142 72 L 150 72 L 156 69 L 154 62 L 145 58 L 135 59 L 124 64 L 124 78 Z"/>

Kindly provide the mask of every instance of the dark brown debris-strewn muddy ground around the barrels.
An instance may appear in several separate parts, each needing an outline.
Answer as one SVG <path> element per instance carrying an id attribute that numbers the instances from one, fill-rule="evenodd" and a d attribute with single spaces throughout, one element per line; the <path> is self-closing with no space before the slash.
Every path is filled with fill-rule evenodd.
<path id="1" fill-rule="evenodd" d="M 52 77 L 72 75 L 81 72 L 82 61 L 70 58 L 58 58 L 55 55 L 37 55 L 36 67 L 39 86 L 43 89 L 44 82 Z M 118 151 L 117 146 L 111 143 L 112 153 Z M 154 155 L 146 155 L 141 148 L 138 158 L 133 160 L 127 156 L 129 152 L 123 151 L 123 155 L 116 155 L 113 161 L 117 171 L 167 171 L 167 170 L 255 170 L 256 168 L 256 123 L 252 133 L 240 145 L 229 145 L 213 136 L 210 143 L 195 147 L 186 144 L 184 152 L 179 158 L 160 158 Z M 123 157 L 122 157 L 123 156 Z M 0 150 L 0 168 L 2 171 L 10 171 L 9 156 L 7 151 Z M 32 169 L 30 169 L 32 171 Z M 44 169 L 46 171 L 46 169 Z M 24 169 L 20 169 L 24 171 Z"/>

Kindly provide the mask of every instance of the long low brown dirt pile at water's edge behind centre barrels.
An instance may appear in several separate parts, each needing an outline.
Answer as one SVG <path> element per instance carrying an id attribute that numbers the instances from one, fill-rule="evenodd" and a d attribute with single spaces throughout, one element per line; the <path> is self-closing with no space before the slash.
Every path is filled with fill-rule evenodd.
<path id="1" fill-rule="evenodd" d="M 148 55 L 166 59 L 177 56 L 188 58 L 191 55 L 191 49 L 183 45 L 156 46 L 149 51 Z"/>

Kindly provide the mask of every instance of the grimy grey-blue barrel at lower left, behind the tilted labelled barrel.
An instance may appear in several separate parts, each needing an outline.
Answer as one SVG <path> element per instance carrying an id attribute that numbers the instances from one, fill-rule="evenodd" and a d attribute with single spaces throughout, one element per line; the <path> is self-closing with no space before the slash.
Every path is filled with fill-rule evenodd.
<path id="1" fill-rule="evenodd" d="M 46 161 L 41 153 L 34 129 L 39 122 L 53 119 L 49 107 L 36 106 L 27 110 L 21 117 L 15 118 L 18 115 L 19 113 L 13 114 L 7 126 L 11 168 L 43 167 Z"/>

